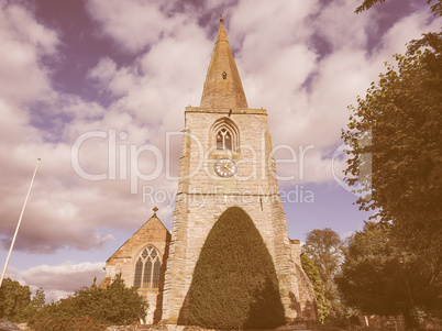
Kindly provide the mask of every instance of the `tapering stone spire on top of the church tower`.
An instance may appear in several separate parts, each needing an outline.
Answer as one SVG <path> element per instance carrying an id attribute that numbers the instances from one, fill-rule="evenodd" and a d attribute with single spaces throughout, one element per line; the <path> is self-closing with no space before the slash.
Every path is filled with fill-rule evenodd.
<path id="1" fill-rule="evenodd" d="M 202 91 L 203 108 L 248 108 L 221 13 L 220 29 Z"/>

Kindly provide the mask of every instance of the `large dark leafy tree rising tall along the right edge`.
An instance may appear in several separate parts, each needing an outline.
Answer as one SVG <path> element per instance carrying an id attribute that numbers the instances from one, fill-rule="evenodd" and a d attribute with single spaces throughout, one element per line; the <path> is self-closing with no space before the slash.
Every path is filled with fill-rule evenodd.
<path id="1" fill-rule="evenodd" d="M 423 51 L 422 51 L 423 49 Z M 442 33 L 412 41 L 398 68 L 387 65 L 342 132 L 352 157 L 346 180 L 361 185 L 356 201 L 371 219 L 394 225 L 404 250 L 426 261 L 441 282 L 442 246 Z M 368 169 L 368 170 L 367 170 Z"/>

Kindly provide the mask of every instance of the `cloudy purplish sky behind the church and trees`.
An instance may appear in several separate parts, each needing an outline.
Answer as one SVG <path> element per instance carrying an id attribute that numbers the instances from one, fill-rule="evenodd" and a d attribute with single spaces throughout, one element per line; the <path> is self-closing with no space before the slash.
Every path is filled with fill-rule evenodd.
<path id="1" fill-rule="evenodd" d="M 291 239 L 371 216 L 343 183 L 349 104 L 439 31 L 426 0 L 0 0 L 0 265 L 57 300 L 99 283 L 152 214 L 170 230 L 180 132 L 220 13 L 250 108 L 265 108 Z"/>

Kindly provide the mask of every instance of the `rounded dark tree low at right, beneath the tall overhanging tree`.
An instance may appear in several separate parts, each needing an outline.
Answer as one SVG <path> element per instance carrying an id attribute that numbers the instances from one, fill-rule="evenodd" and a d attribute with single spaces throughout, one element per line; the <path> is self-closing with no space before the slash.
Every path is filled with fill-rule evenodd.
<path id="1" fill-rule="evenodd" d="M 440 290 L 420 273 L 416 255 L 404 255 L 390 231 L 391 225 L 366 222 L 352 235 L 336 284 L 349 306 L 366 315 L 402 313 L 408 327 L 416 327 L 412 312 L 435 311 Z"/>

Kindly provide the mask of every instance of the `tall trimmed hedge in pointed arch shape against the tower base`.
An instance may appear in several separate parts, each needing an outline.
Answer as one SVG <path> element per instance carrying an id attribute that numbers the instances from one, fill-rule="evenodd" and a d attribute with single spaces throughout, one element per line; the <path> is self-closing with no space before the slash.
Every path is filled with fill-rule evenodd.
<path id="1" fill-rule="evenodd" d="M 197 262 L 187 324 L 226 330 L 285 322 L 275 266 L 258 230 L 243 209 L 226 209 Z"/>

